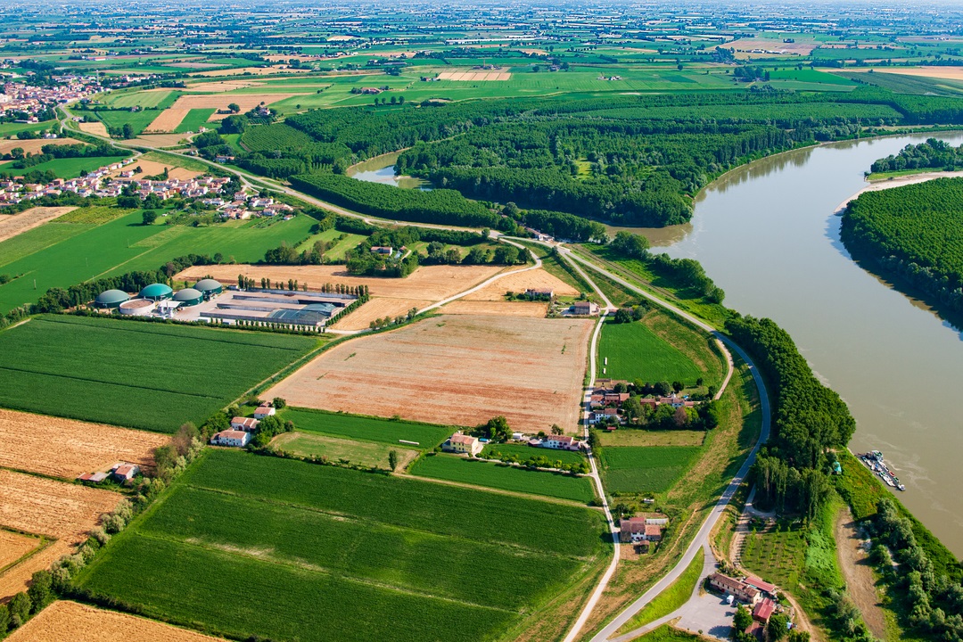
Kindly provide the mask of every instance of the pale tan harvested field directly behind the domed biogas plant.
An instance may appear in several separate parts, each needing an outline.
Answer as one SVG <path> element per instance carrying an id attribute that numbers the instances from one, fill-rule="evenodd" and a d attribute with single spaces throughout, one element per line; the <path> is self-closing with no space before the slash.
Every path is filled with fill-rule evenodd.
<path id="1" fill-rule="evenodd" d="M 405 278 L 377 278 L 351 276 L 344 266 L 224 265 L 195 266 L 174 275 L 174 279 L 194 281 L 210 275 L 221 283 L 236 283 L 238 274 L 244 274 L 256 282 L 260 282 L 262 278 L 284 282 L 297 279 L 299 283 L 307 283 L 308 290 L 318 290 L 325 283 L 366 285 L 373 297 L 436 302 L 464 292 L 501 270 L 498 266 L 422 266 Z M 363 310 L 367 305 L 369 304 L 362 305 L 359 309 Z"/>

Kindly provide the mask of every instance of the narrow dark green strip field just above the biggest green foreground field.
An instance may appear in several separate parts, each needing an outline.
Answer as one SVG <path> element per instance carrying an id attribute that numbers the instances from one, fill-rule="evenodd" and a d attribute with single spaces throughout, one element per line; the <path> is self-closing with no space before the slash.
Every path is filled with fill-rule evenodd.
<path id="1" fill-rule="evenodd" d="M 411 475 L 459 481 L 516 493 L 544 495 L 560 500 L 587 503 L 595 497 L 589 477 L 529 471 L 492 462 L 470 461 L 449 454 L 422 457 L 409 472 Z"/>

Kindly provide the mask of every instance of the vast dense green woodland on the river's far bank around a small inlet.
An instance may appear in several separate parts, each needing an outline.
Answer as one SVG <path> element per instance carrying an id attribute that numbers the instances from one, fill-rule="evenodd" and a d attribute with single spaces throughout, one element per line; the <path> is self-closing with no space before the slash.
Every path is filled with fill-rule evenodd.
<path id="1" fill-rule="evenodd" d="M 753 158 L 866 128 L 937 121 L 963 122 L 963 109 L 950 99 L 879 88 L 426 103 L 312 110 L 284 124 L 249 127 L 242 138 L 249 152 L 237 163 L 275 178 L 297 176 L 300 189 L 369 214 L 496 225 L 466 222 L 474 204 L 454 195 L 432 197 L 446 199 L 446 212 L 439 212 L 408 202 L 425 197 L 333 178 L 356 161 L 405 150 L 399 173 L 468 198 L 663 226 L 688 220 L 699 189 Z M 448 212 L 455 218 L 443 218 Z M 581 236 L 591 238 L 586 230 Z"/>

